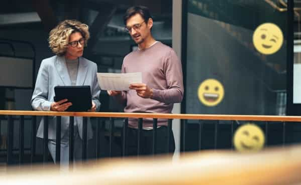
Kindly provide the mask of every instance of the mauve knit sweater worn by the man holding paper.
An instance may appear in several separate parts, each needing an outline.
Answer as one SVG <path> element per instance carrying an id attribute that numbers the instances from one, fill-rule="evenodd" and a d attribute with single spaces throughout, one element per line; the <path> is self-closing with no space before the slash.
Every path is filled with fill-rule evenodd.
<path id="1" fill-rule="evenodd" d="M 172 48 L 157 42 L 144 50 L 129 53 L 123 60 L 122 73 L 142 72 L 142 83 L 153 89 L 152 98 L 142 98 L 135 90 L 123 91 L 116 99 L 125 112 L 171 113 L 174 103 L 183 98 L 181 62 Z M 167 125 L 158 119 L 158 126 Z M 138 127 L 138 120 L 129 119 L 129 126 Z M 152 127 L 152 119 L 143 119 L 143 127 Z"/>

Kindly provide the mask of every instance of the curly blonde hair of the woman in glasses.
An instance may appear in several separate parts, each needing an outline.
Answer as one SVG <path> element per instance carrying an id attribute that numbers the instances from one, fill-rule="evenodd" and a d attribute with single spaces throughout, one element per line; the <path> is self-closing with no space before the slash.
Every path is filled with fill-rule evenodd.
<path id="1" fill-rule="evenodd" d="M 60 22 L 49 33 L 49 47 L 55 55 L 63 56 L 66 53 L 69 37 L 75 32 L 79 32 L 85 39 L 84 46 L 87 45 L 87 41 L 90 38 L 88 31 L 89 27 L 76 20 L 65 20 Z"/>

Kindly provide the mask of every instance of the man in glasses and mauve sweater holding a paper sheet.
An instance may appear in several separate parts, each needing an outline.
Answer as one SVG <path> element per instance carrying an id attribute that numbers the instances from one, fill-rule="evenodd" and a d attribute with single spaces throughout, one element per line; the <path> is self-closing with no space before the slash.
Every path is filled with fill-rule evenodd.
<path id="1" fill-rule="evenodd" d="M 109 90 L 108 94 L 126 106 L 125 112 L 171 113 L 173 103 L 181 102 L 183 97 L 181 62 L 170 47 L 153 38 L 153 20 L 148 8 L 129 8 L 124 23 L 138 49 L 124 58 L 122 73 L 142 72 L 142 83 L 131 84 L 129 91 Z M 141 154 L 152 153 L 152 126 L 152 119 L 143 120 Z M 129 119 L 129 127 L 128 154 L 136 155 L 138 120 Z M 166 152 L 167 131 L 167 120 L 158 119 L 156 153 Z M 168 152 L 174 152 L 171 130 L 169 135 Z"/>

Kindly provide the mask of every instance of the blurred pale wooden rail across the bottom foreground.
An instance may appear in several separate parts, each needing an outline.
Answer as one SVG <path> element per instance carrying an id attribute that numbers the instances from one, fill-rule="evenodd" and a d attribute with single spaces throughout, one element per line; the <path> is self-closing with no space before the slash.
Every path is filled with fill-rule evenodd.
<path id="1" fill-rule="evenodd" d="M 170 158 L 108 159 L 84 163 L 73 172 L 41 166 L 10 168 L 0 184 L 43 185 L 294 185 L 301 183 L 301 146 L 267 149 L 259 153 L 231 151 L 188 153 Z"/>

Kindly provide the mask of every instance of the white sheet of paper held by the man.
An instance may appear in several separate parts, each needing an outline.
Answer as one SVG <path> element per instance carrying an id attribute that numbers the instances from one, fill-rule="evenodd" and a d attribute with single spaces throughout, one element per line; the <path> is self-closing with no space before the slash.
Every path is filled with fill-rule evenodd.
<path id="1" fill-rule="evenodd" d="M 128 91 L 130 84 L 142 83 L 142 73 L 97 73 L 102 90 Z"/>

